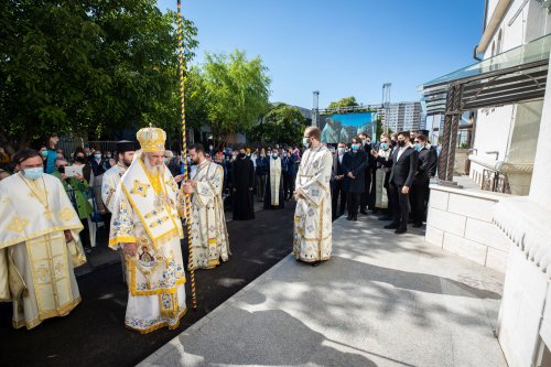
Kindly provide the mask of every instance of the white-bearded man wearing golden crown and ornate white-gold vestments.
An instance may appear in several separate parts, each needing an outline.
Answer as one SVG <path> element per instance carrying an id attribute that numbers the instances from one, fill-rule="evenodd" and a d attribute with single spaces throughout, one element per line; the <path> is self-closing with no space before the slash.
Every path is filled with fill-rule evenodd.
<path id="1" fill-rule="evenodd" d="M 176 328 L 185 314 L 185 272 L 179 214 L 185 208 L 164 165 L 166 133 L 158 128 L 137 133 L 141 150 L 115 194 L 109 247 L 122 247 L 127 262 L 125 324 L 145 334 Z"/>

